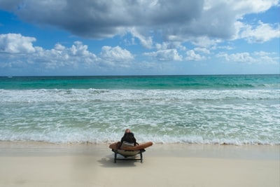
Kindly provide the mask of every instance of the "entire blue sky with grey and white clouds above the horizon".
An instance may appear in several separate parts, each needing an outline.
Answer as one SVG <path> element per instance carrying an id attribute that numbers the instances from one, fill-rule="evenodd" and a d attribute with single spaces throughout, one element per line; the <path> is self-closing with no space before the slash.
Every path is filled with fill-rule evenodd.
<path id="1" fill-rule="evenodd" d="M 276 0 L 0 0 L 0 76 L 279 74 Z"/>

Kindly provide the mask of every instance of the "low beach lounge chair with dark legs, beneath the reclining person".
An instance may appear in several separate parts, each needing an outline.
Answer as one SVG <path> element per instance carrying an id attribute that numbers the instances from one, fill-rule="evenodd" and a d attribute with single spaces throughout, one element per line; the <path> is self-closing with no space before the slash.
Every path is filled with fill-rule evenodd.
<path id="1" fill-rule="evenodd" d="M 112 151 L 115 153 L 115 158 L 114 162 L 116 163 L 117 160 L 139 160 L 140 162 L 143 162 L 143 154 L 145 152 L 145 149 L 142 148 L 140 150 L 128 150 L 126 148 L 129 147 L 134 147 L 134 144 L 128 143 L 126 141 L 123 142 L 122 146 L 120 146 L 120 149 L 118 150 L 113 150 Z M 118 154 L 122 155 L 123 158 L 118 158 Z M 137 157 L 137 155 L 140 155 L 140 158 Z"/>

